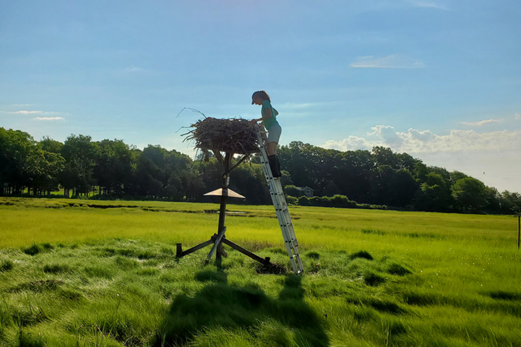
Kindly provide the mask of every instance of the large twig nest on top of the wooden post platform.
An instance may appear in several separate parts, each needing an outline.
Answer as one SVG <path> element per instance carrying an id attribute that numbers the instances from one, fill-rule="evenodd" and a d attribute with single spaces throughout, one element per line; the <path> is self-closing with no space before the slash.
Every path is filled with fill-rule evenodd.
<path id="1" fill-rule="evenodd" d="M 220 151 L 238 154 L 258 152 L 258 139 L 254 124 L 247 119 L 217 119 L 207 117 L 192 124 L 194 128 L 183 134 L 184 141 L 195 140 L 195 147 L 203 151 Z"/>

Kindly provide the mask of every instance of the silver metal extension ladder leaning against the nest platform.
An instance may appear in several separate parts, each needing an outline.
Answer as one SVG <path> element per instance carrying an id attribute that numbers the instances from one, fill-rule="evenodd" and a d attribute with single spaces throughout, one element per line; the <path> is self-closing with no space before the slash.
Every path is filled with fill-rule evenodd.
<path id="1" fill-rule="evenodd" d="M 261 165 L 264 171 L 264 177 L 268 189 L 270 189 L 270 195 L 272 196 L 273 205 L 276 212 L 276 218 L 279 219 L 279 225 L 282 230 L 282 237 L 284 238 L 284 244 L 286 244 L 286 250 L 290 256 L 290 262 L 293 272 L 300 274 L 304 272 L 302 262 L 299 255 L 299 242 L 297 242 L 297 236 L 295 236 L 295 229 L 291 222 L 290 212 L 288 211 L 288 204 L 286 203 L 286 197 L 282 189 L 281 178 L 273 177 L 270 162 L 267 159 L 266 152 L 266 132 L 264 126 L 255 126 L 258 137 L 259 148 L 261 149 Z"/>

